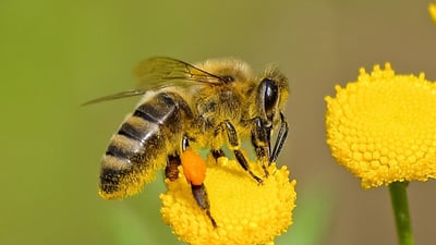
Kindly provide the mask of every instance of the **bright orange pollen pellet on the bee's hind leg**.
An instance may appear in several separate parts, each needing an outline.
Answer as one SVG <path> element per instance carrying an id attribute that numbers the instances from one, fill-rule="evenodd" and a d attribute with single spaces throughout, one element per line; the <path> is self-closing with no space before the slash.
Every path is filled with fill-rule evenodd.
<path id="1" fill-rule="evenodd" d="M 194 150 L 186 149 L 181 155 L 183 173 L 193 185 L 203 184 L 206 177 L 206 162 Z"/>

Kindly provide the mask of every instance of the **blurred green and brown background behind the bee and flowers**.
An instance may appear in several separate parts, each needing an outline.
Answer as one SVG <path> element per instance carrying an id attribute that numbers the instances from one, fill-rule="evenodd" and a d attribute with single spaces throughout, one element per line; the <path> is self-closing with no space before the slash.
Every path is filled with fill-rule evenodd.
<path id="1" fill-rule="evenodd" d="M 0 244 L 180 244 L 159 217 L 161 179 L 135 197 L 97 195 L 99 160 L 137 98 L 150 56 L 238 57 L 288 74 L 291 132 L 279 162 L 298 180 L 294 224 L 277 244 L 396 244 L 387 188 L 363 191 L 325 144 L 326 95 L 361 66 L 436 79 L 428 1 L 0 2 Z M 435 181 L 411 183 L 416 244 L 433 244 Z"/>

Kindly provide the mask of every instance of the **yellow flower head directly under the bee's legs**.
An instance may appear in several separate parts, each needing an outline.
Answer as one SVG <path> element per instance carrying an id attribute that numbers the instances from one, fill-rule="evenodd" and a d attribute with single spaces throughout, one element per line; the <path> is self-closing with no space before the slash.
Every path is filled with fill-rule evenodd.
<path id="1" fill-rule="evenodd" d="M 259 164 L 250 166 L 263 173 Z M 179 170 L 178 180 L 166 180 L 161 213 L 173 233 L 191 245 L 274 244 L 275 236 L 292 224 L 295 181 L 289 180 L 286 167 L 268 167 L 269 176 L 258 185 L 234 160 L 209 159 L 205 185 L 216 228 L 195 203 L 183 169 Z"/>

